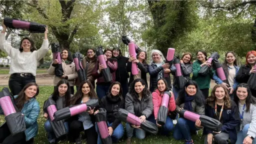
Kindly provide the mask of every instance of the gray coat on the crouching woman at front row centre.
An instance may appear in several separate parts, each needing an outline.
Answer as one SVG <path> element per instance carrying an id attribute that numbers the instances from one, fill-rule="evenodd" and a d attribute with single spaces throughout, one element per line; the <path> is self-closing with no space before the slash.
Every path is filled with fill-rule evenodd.
<path id="1" fill-rule="evenodd" d="M 125 109 L 136 116 L 145 115 L 148 118 L 153 111 L 152 95 L 143 96 L 140 101 L 128 92 L 125 96 Z"/>

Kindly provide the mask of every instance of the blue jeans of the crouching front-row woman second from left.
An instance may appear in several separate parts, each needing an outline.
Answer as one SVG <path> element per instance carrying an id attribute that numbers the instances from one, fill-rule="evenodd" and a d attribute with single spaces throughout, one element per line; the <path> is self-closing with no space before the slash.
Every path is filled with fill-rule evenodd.
<path id="1" fill-rule="evenodd" d="M 65 125 L 65 128 L 66 128 L 66 132 L 68 132 L 68 122 L 64 122 L 64 125 Z M 45 123 L 44 123 L 44 129 L 45 129 L 45 131 L 48 133 L 48 135 L 47 135 L 48 141 L 49 141 L 49 142 L 55 142 L 56 136 L 55 136 L 55 134 L 54 134 L 54 132 L 53 132 L 53 129 L 52 129 L 51 125 L 50 125 L 49 119 L 47 119 L 47 120 L 45 121 Z"/>

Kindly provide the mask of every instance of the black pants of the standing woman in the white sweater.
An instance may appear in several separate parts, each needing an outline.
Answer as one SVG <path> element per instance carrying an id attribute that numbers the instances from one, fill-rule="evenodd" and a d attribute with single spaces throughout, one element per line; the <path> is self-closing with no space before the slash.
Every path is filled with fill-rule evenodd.
<path id="1" fill-rule="evenodd" d="M 20 76 L 11 74 L 8 83 L 11 94 L 17 95 L 22 90 L 22 88 L 29 82 L 35 82 L 35 77 L 33 75 Z"/>

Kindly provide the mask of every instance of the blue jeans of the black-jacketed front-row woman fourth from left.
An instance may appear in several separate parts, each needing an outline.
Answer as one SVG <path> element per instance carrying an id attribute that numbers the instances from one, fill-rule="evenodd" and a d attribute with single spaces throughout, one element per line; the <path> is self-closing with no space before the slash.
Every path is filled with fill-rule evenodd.
<path id="1" fill-rule="evenodd" d="M 112 123 L 109 124 L 109 122 L 107 122 L 107 125 L 108 126 L 111 126 Z M 97 124 L 95 123 L 95 129 L 96 129 L 96 132 L 98 133 L 98 140 L 97 140 L 97 144 L 101 144 L 101 140 L 100 140 L 100 133 L 99 133 L 99 130 L 98 130 L 98 126 Z M 120 123 L 117 127 L 115 127 L 115 129 L 113 130 L 113 133 L 111 135 L 111 138 L 112 138 L 112 142 L 118 142 L 118 140 L 120 138 L 122 138 L 123 136 L 123 133 L 124 133 L 124 130 L 123 130 L 123 126 L 122 126 L 122 123 Z"/>

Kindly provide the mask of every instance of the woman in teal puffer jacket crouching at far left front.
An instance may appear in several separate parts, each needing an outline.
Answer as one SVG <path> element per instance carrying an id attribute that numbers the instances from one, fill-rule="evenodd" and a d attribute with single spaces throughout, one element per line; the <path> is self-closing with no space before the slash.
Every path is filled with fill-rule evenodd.
<path id="1" fill-rule="evenodd" d="M 34 82 L 29 82 L 22 88 L 18 95 L 14 95 L 14 103 L 24 116 L 26 129 L 24 132 L 11 135 L 7 124 L 5 123 L 1 125 L 0 143 L 33 143 L 33 137 L 38 132 L 37 118 L 40 112 L 40 106 L 38 101 L 35 99 L 35 96 L 38 95 L 38 93 L 38 85 Z"/>

